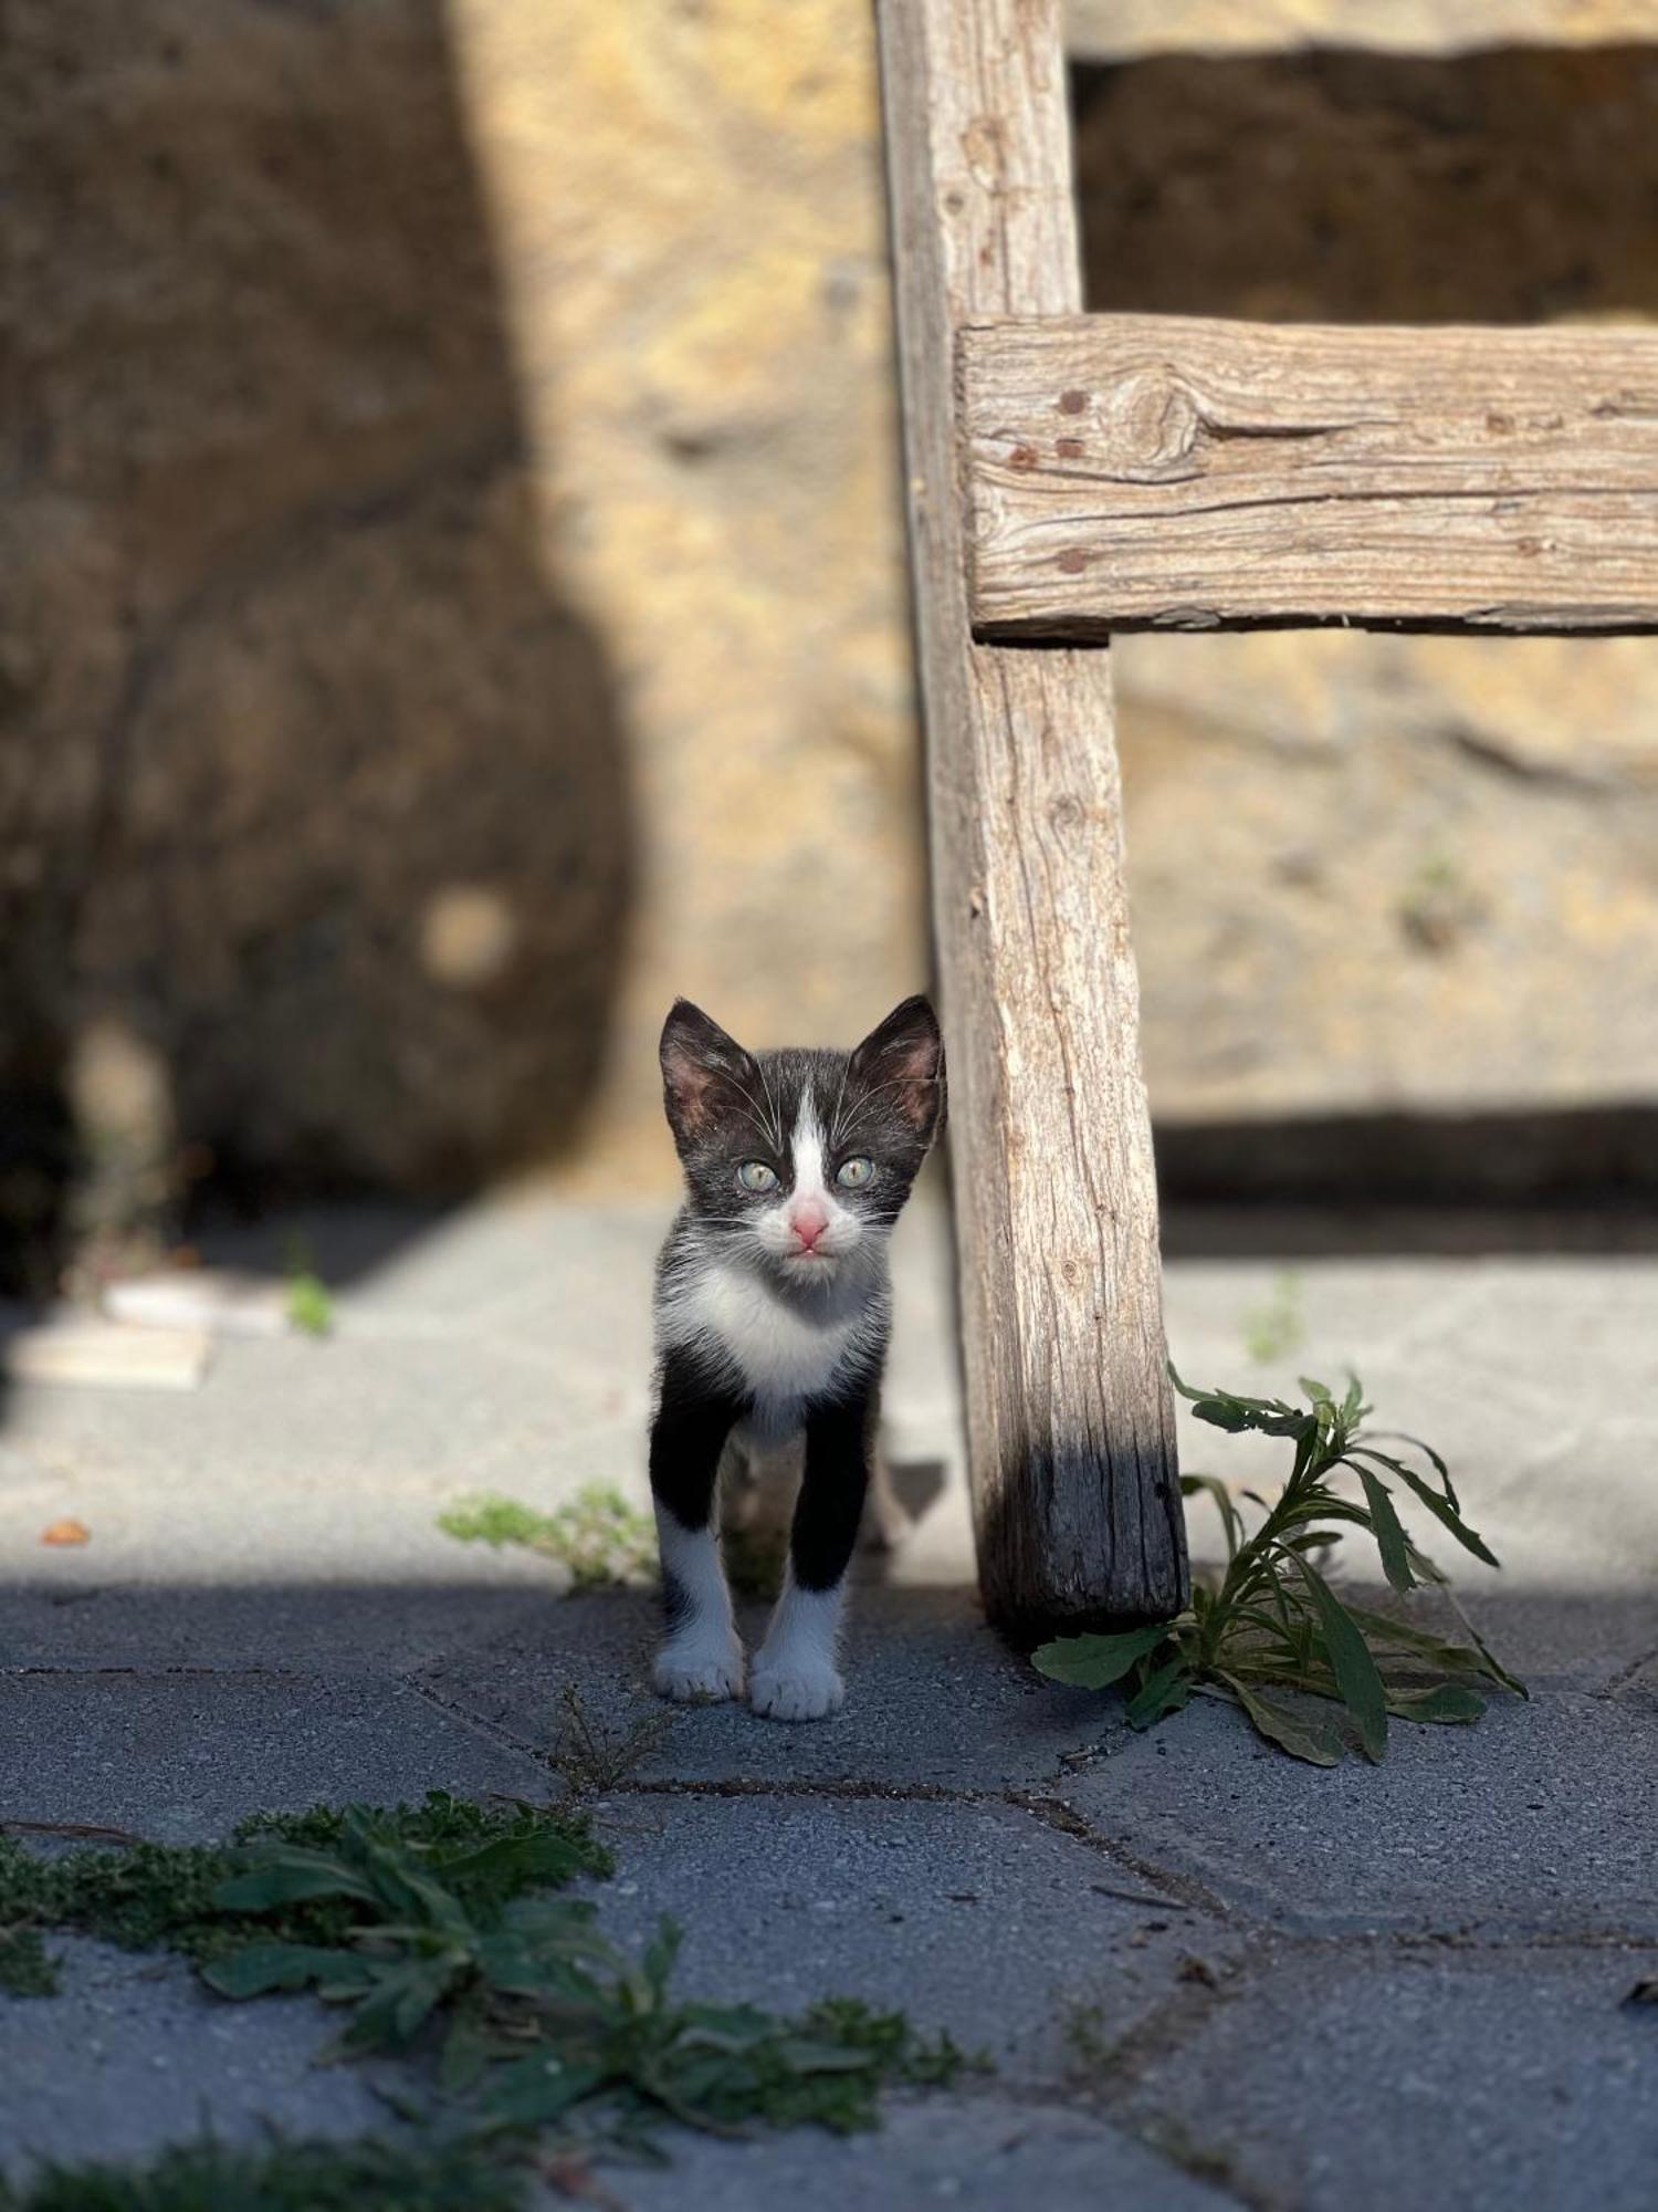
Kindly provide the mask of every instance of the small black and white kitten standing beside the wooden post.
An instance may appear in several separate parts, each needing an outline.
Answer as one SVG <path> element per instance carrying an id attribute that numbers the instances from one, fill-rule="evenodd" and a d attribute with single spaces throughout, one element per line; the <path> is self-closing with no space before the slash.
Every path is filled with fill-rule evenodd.
<path id="1" fill-rule="evenodd" d="M 663 1697 L 741 1697 L 718 1553 L 732 1436 L 805 1431 L 789 1568 L 749 1703 L 818 1721 L 844 1697 L 840 1588 L 858 1542 L 886 1363 L 886 1239 L 944 1115 L 944 1044 L 906 998 L 853 1053 L 745 1053 L 690 1000 L 661 1035 L 685 1206 L 657 1263 L 657 1502 Z"/>

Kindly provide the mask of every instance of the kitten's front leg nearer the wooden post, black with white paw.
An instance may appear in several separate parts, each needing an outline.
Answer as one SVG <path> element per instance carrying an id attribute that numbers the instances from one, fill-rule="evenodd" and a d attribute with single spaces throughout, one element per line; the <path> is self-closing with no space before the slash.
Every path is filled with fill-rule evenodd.
<path id="1" fill-rule="evenodd" d="M 754 1655 L 749 1703 L 772 1721 L 822 1721 L 847 1686 L 836 1668 L 840 1595 L 869 1486 L 873 1394 L 807 1416 L 807 1464 L 789 1531 L 789 1573 L 765 1644 Z"/>

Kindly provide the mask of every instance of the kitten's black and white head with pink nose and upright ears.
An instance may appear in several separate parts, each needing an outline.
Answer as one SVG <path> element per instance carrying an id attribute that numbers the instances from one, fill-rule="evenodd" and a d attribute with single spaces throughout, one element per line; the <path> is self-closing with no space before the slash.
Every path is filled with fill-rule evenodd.
<path id="1" fill-rule="evenodd" d="M 681 998 L 661 1073 L 692 1217 L 796 1285 L 833 1281 L 886 1234 L 944 1117 L 944 1042 L 924 998 L 851 1053 L 747 1053 Z"/>

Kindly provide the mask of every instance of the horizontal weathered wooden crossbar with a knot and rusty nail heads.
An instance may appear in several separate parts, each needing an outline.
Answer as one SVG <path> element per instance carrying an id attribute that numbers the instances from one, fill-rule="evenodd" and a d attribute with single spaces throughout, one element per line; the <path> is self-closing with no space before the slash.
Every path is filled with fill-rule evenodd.
<path id="1" fill-rule="evenodd" d="M 959 334 L 984 635 L 1658 628 L 1658 332 Z"/>

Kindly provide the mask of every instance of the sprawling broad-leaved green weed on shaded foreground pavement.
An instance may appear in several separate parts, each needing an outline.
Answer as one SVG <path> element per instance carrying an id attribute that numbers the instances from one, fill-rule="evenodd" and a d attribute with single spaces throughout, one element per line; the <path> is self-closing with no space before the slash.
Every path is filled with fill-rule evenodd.
<path id="1" fill-rule="evenodd" d="M 962 2064 L 948 2037 L 924 2044 L 902 2017 L 860 2004 L 787 2022 L 676 1997 L 672 1922 L 634 1962 L 590 1900 L 546 1893 L 546 1869 L 524 1893 L 526 1849 L 528 1838 L 497 1840 L 422 1860 L 365 1809 L 347 1809 L 325 1849 L 270 1838 L 217 1905 L 256 1916 L 338 1900 L 349 1929 L 327 1944 L 250 1942 L 203 1978 L 225 1997 L 314 1989 L 347 2015 L 343 2053 L 436 2042 L 442 2088 L 486 2130 L 637 2141 L 665 2117 L 718 2135 L 745 2121 L 851 2130 L 873 2124 L 882 2081 L 944 2081 Z"/>

